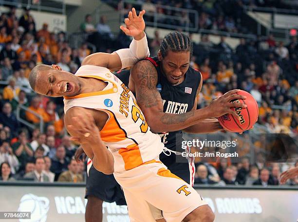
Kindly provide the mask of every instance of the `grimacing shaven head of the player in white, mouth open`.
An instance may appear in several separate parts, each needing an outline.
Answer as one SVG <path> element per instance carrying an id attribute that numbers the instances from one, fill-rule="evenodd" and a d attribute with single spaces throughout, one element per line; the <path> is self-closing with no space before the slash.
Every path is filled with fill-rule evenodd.
<path id="1" fill-rule="evenodd" d="M 74 96 L 80 85 L 77 77 L 66 71 L 51 69 L 37 74 L 35 91 L 51 97 Z"/>

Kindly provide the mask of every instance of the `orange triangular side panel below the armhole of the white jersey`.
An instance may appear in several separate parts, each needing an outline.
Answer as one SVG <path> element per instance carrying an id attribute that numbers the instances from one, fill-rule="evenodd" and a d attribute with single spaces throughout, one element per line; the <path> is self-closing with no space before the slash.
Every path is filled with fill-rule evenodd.
<path id="1" fill-rule="evenodd" d="M 127 139 L 125 131 L 119 127 L 113 113 L 105 111 L 109 113 L 110 118 L 100 130 L 101 139 L 105 142 L 119 142 Z"/>

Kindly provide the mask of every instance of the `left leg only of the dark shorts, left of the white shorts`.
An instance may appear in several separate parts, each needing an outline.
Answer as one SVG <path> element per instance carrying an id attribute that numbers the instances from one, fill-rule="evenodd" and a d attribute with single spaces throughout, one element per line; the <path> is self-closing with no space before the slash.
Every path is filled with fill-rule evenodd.
<path id="1" fill-rule="evenodd" d="M 116 202 L 117 205 L 127 205 L 123 190 L 115 180 L 114 175 L 99 172 L 93 165 L 87 177 L 85 198 L 87 199 L 89 195 L 93 195 L 108 203 Z"/>

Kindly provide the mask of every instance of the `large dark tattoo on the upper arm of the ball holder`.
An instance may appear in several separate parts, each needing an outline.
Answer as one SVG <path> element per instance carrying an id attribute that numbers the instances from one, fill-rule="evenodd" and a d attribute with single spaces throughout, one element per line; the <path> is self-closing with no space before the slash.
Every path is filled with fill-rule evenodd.
<path id="1" fill-rule="evenodd" d="M 157 72 L 153 65 L 148 61 L 140 61 L 133 67 L 137 72 L 137 82 L 139 91 L 136 93 L 137 101 L 144 104 L 146 108 L 150 108 L 159 104 L 161 100 L 159 92 L 156 90 Z"/>

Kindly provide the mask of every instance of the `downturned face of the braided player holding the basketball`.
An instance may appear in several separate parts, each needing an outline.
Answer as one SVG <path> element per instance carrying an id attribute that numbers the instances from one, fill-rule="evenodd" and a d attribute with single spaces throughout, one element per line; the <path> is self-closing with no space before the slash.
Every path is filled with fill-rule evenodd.
<path id="1" fill-rule="evenodd" d="M 168 51 L 165 57 L 162 57 L 159 53 L 159 59 L 162 61 L 163 72 L 171 84 L 176 85 L 183 82 L 186 71 L 189 68 L 189 51 Z"/>

